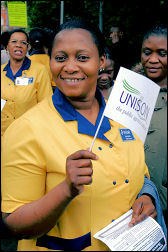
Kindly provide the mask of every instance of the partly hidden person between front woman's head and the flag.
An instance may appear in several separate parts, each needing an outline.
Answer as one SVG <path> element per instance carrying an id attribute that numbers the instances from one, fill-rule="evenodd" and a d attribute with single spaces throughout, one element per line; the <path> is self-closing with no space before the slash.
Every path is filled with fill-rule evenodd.
<path id="1" fill-rule="evenodd" d="M 104 68 L 99 70 L 97 86 L 101 90 L 105 99 L 108 99 L 112 87 L 114 85 L 114 60 L 112 59 L 110 50 L 105 48 L 106 64 Z"/>

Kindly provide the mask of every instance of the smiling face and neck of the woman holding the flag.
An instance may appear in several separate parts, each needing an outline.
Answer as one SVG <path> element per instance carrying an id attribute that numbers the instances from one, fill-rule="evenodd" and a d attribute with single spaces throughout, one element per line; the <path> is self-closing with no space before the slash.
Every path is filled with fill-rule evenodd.
<path id="1" fill-rule="evenodd" d="M 67 47 L 67 43 L 71 47 Z M 104 61 L 104 56 L 99 58 L 88 31 L 79 28 L 64 30 L 56 36 L 50 61 L 53 79 L 70 103 L 81 111 L 92 106 L 98 70 Z"/>

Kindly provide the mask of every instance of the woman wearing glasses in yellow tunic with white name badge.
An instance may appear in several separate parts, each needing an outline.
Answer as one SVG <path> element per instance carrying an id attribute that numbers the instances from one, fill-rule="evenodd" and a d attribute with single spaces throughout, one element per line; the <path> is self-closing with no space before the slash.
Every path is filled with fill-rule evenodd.
<path id="1" fill-rule="evenodd" d="M 53 93 L 46 67 L 26 56 L 28 42 L 24 30 L 9 32 L 10 59 L 1 66 L 1 136 L 15 119 Z"/>

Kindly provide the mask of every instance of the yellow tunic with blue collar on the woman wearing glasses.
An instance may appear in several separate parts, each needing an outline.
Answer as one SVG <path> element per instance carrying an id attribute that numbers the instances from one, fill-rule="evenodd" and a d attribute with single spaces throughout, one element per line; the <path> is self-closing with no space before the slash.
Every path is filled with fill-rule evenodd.
<path id="1" fill-rule="evenodd" d="M 16 85 L 17 77 L 26 77 L 28 84 Z M 26 57 L 15 76 L 9 63 L 2 65 L 1 98 L 6 103 L 1 111 L 1 136 L 15 119 L 52 93 L 47 69 L 42 64 Z"/>

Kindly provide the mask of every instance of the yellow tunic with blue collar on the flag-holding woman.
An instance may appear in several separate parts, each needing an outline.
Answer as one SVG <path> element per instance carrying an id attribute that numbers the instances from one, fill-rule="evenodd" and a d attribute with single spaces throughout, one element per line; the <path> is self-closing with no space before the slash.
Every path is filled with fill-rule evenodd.
<path id="1" fill-rule="evenodd" d="M 2 151 L 2 212 L 40 199 L 65 179 L 66 158 L 91 146 L 96 125 L 92 125 L 56 88 L 52 98 L 29 110 L 6 131 Z M 104 117 L 93 152 L 93 182 L 71 201 L 57 224 L 38 239 L 20 240 L 18 250 L 108 251 L 93 235 L 134 203 L 148 169 L 141 140 L 123 141 L 124 127 Z"/>

